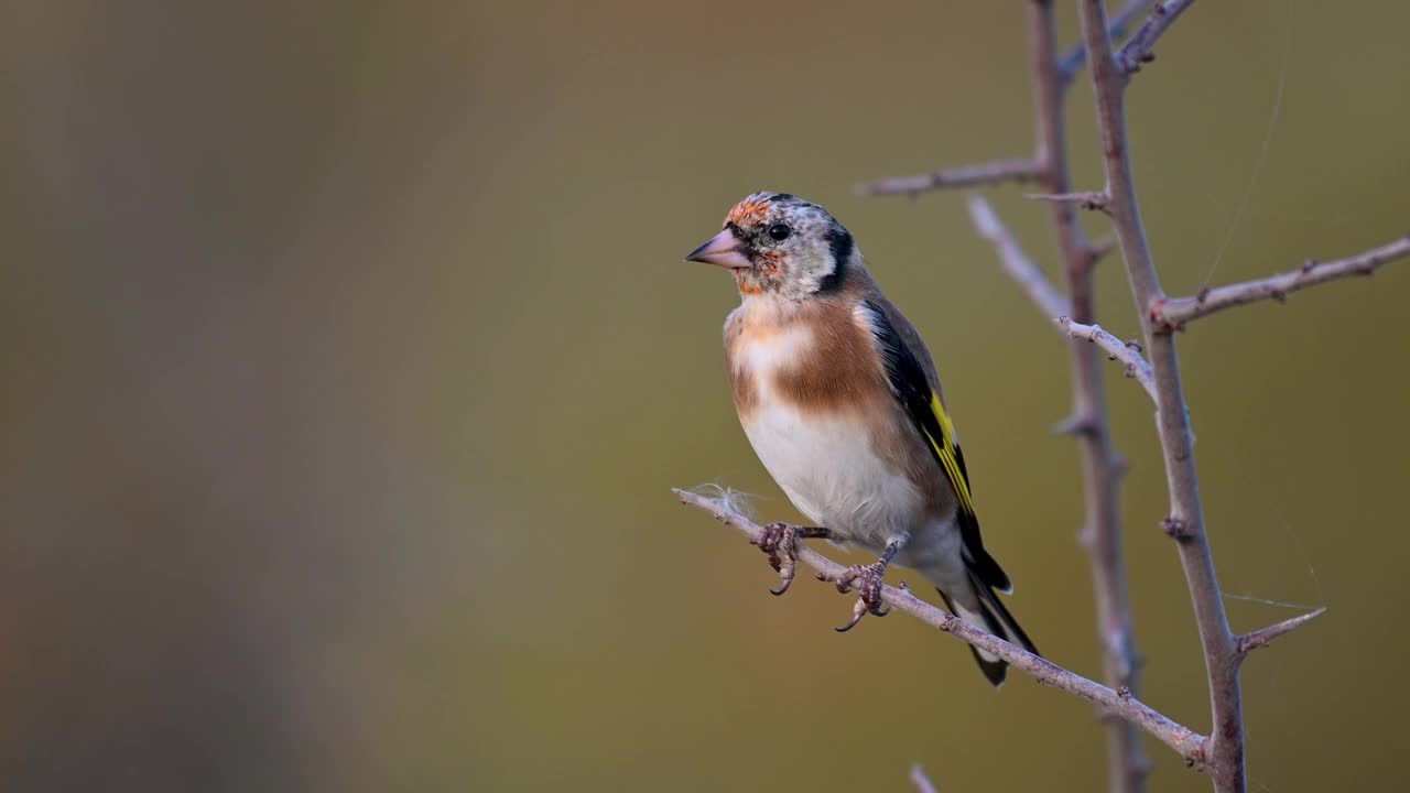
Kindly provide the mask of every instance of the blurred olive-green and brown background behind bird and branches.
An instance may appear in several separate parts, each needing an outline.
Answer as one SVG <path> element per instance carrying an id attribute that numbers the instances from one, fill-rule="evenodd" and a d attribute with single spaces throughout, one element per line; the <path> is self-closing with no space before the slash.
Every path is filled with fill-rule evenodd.
<path id="1" fill-rule="evenodd" d="M 1172 293 L 1410 226 L 1410 8 L 1294 6 L 1201 4 L 1136 80 Z M 1063 341 L 962 195 L 852 193 L 1029 151 L 1024 13 L 0 6 L 0 786 L 905 790 L 919 761 L 1100 789 L 1090 707 L 995 693 L 914 619 L 833 634 L 850 598 L 768 597 L 668 491 L 797 519 L 729 402 L 733 285 L 681 257 L 743 195 L 804 195 L 929 340 L 1015 614 L 1100 674 Z M 1081 82 L 1069 110 L 1096 188 Z M 1018 192 L 991 195 L 1052 265 Z M 1135 334 L 1114 261 L 1100 288 Z M 1180 339 L 1227 591 L 1330 607 L 1245 667 L 1256 790 L 1403 777 L 1407 298 L 1396 264 Z M 1204 731 L 1151 405 L 1110 374 L 1145 694 Z M 1148 748 L 1155 790 L 1207 789 Z"/>

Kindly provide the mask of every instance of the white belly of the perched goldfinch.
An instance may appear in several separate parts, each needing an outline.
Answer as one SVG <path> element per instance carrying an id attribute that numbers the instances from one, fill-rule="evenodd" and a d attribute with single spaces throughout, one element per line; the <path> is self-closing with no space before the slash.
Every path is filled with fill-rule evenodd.
<path id="1" fill-rule="evenodd" d="M 845 416 L 804 422 L 792 406 L 766 398 L 744 433 L 808 519 L 859 545 L 884 547 L 919 528 L 922 498 L 909 478 L 877 457 L 859 422 Z"/>

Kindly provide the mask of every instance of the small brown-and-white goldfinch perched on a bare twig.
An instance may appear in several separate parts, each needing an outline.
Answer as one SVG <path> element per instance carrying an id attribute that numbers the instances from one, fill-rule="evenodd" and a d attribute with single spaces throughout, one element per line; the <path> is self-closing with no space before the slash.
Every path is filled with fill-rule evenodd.
<path id="1" fill-rule="evenodd" d="M 723 267 L 739 286 L 725 320 L 735 408 L 764 468 L 816 523 L 770 523 L 756 540 L 783 576 L 773 593 L 787 591 L 799 539 L 859 546 L 877 560 L 836 581 L 860 593 L 838 631 L 885 615 L 881 581 L 894 563 L 931 581 L 950 612 L 1038 655 L 998 598 L 1012 584 L 980 538 L 931 351 L 852 233 L 816 203 L 764 190 L 685 260 Z M 1000 686 L 1008 665 L 970 649 Z"/>

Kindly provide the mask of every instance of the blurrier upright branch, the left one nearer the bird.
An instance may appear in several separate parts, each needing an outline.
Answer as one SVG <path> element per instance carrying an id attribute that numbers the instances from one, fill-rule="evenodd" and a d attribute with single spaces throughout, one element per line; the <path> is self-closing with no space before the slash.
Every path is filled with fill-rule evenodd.
<path id="1" fill-rule="evenodd" d="M 1072 190 L 1063 119 L 1067 75 L 1056 51 L 1053 0 L 1029 3 L 1028 27 L 1034 51 L 1038 131 L 1035 159 L 1042 168 L 1039 179 L 1049 193 L 1067 193 Z M 1097 255 L 1077 219 L 1077 206 L 1072 202 L 1052 202 L 1049 212 L 1066 265 L 1067 289 L 1072 296 L 1070 316 L 1084 325 L 1094 323 L 1091 268 Z M 1141 662 L 1135 649 L 1131 597 L 1121 547 L 1122 463 L 1111 444 L 1103 354 L 1094 344 L 1069 344 L 1069 356 L 1073 404 L 1069 426 L 1077 436 L 1087 511 L 1081 545 L 1091 557 L 1104 682 L 1112 689 L 1136 691 Z M 1114 793 L 1139 793 L 1145 789 L 1149 761 L 1141 745 L 1141 732 L 1134 725 L 1107 721 L 1107 772 Z"/>

